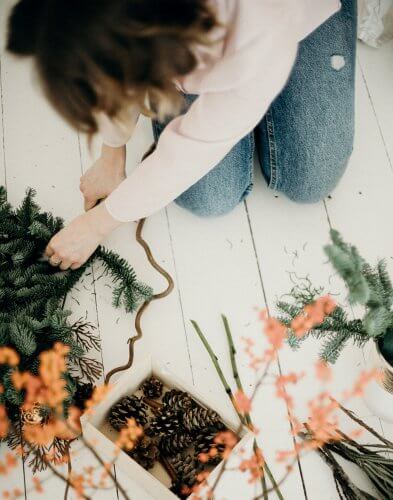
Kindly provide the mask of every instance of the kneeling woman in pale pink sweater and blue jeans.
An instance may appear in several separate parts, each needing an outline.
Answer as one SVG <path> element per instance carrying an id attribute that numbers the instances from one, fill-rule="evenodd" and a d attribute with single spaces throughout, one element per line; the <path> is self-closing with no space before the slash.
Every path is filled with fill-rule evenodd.
<path id="1" fill-rule="evenodd" d="M 49 242 L 76 269 L 113 229 L 172 200 L 200 216 L 252 187 L 254 147 L 270 188 L 316 202 L 353 143 L 356 1 L 21 0 L 8 50 L 34 58 L 76 129 L 103 136 L 81 179 L 86 213 Z M 184 97 L 182 97 L 184 96 Z M 139 113 L 155 152 L 125 178 Z M 103 203 L 97 204 L 105 198 Z"/>

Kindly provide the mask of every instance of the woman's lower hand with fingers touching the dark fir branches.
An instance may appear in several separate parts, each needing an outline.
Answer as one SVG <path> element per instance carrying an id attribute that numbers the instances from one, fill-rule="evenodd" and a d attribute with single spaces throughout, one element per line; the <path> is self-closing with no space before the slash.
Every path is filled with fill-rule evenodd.
<path id="1" fill-rule="evenodd" d="M 52 266 L 59 266 L 63 271 L 78 269 L 120 224 L 109 214 L 105 203 L 100 203 L 55 234 L 46 247 L 45 255 Z"/>

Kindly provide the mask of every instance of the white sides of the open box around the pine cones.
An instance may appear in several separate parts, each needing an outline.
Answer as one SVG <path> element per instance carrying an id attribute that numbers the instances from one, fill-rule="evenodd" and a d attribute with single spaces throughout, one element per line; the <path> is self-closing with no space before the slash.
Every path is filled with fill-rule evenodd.
<path id="1" fill-rule="evenodd" d="M 93 414 L 82 416 L 83 434 L 90 442 L 94 443 L 95 448 L 104 460 L 113 460 L 114 442 L 118 436 L 118 433 L 107 422 L 110 408 L 122 397 L 134 394 L 141 383 L 152 375 L 159 378 L 165 386 L 186 391 L 202 406 L 215 410 L 226 427 L 238 434 L 240 440 L 232 450 L 227 464 L 228 468 L 236 468 L 241 460 L 240 454 L 242 454 L 243 458 L 251 456 L 254 434 L 246 428 L 241 428 L 239 432 L 239 423 L 234 411 L 232 413 L 227 409 L 220 410 L 220 408 L 216 408 L 216 400 L 208 393 L 205 393 L 203 388 L 196 391 L 193 385 L 170 372 L 161 363 L 146 359 L 123 373 L 106 399 L 95 407 Z M 219 464 L 211 472 L 209 484 L 214 483 L 221 467 L 222 464 Z M 175 500 L 177 498 L 168 489 L 170 487 L 169 476 L 159 464 L 150 471 L 146 471 L 125 452 L 121 451 L 116 459 L 116 468 L 121 470 L 121 477 L 126 477 L 126 484 L 124 484 L 124 479 L 123 481 L 119 479 L 119 481 L 122 482 L 123 486 L 126 486 L 131 498 L 138 498 L 138 500 Z M 253 498 L 255 496 L 254 485 L 250 484 L 248 479 L 249 476 L 239 470 L 224 473 L 220 479 L 217 493 L 219 492 L 220 498 Z"/>

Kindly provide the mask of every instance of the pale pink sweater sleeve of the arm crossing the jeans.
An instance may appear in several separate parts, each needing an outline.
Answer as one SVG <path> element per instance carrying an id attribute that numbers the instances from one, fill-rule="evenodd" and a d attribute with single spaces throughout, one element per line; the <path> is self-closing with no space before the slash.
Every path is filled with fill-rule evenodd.
<path id="1" fill-rule="evenodd" d="M 201 94 L 187 113 L 162 132 L 153 154 L 106 199 L 121 222 L 136 221 L 162 209 L 213 169 L 252 131 L 284 87 L 297 42 L 281 41 L 269 61 L 241 86 Z M 236 68 L 234 68 L 236 71 Z"/>

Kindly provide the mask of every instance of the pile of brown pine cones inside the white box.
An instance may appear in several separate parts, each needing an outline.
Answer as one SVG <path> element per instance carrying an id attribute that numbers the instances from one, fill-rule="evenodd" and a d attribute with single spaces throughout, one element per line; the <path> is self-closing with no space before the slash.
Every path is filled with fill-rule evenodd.
<path id="1" fill-rule="evenodd" d="M 165 390 L 156 377 L 140 387 L 141 395 L 126 396 L 112 406 L 108 421 L 120 430 L 134 418 L 144 428 L 144 435 L 129 452 L 146 470 L 159 461 L 172 479 L 171 490 L 180 498 L 197 482 L 200 472 L 211 470 L 221 461 L 223 449 L 215 443 L 218 433 L 226 430 L 220 416 L 199 405 L 188 393 Z M 198 456 L 215 448 L 208 463 Z"/>

